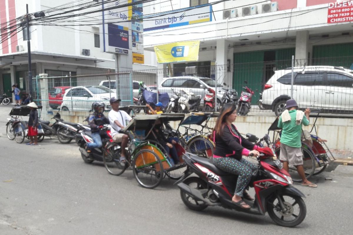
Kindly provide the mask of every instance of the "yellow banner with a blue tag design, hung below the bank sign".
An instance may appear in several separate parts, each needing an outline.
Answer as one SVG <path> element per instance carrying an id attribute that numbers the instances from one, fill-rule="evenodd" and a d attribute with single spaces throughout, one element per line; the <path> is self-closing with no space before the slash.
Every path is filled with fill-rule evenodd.
<path id="1" fill-rule="evenodd" d="M 176 42 L 154 47 L 158 64 L 198 61 L 200 41 Z"/>

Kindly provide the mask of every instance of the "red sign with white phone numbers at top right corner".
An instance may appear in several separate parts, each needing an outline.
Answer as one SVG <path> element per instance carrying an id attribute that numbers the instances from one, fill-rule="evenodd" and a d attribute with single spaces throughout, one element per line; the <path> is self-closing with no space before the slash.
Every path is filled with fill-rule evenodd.
<path id="1" fill-rule="evenodd" d="M 353 21 L 353 0 L 329 3 L 327 23 L 344 23 Z"/>

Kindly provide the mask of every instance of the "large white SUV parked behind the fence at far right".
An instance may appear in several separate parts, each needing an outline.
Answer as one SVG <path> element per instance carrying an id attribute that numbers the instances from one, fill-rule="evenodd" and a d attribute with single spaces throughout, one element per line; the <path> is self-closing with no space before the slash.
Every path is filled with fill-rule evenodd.
<path id="1" fill-rule="evenodd" d="M 353 70 L 333 66 L 294 68 L 293 99 L 300 109 L 353 110 Z M 292 69 L 277 70 L 265 84 L 263 107 L 280 115 L 291 97 Z"/>

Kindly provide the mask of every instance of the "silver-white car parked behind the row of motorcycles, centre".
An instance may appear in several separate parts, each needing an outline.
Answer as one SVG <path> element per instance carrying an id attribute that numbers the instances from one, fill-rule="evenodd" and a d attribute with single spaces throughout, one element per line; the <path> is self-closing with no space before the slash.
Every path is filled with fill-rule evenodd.
<path id="1" fill-rule="evenodd" d="M 184 91 L 188 90 L 194 93 L 195 95 L 201 95 L 201 105 L 203 105 L 203 98 L 205 93 L 207 93 L 207 88 L 211 88 L 213 90 L 216 89 L 216 82 L 210 78 L 204 77 L 196 77 L 196 76 L 181 76 L 181 77 L 170 77 L 166 78 L 162 81 L 161 87 L 158 87 L 159 92 L 167 92 L 169 97 L 171 97 L 175 91 L 179 91 L 183 89 Z M 217 103 L 222 103 L 223 94 L 226 90 L 229 89 L 234 99 L 237 99 L 238 93 L 234 89 L 227 88 L 219 83 L 217 83 Z"/>

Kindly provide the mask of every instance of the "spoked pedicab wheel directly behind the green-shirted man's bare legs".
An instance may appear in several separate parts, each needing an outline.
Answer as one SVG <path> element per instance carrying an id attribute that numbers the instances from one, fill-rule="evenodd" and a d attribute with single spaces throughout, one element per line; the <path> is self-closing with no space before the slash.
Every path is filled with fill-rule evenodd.
<path id="1" fill-rule="evenodd" d="M 306 146 L 302 146 L 301 150 L 303 151 L 303 168 L 305 172 L 305 178 L 309 179 L 315 171 L 316 160 L 313 153 L 308 148 L 306 148 Z M 294 182 L 302 181 L 300 175 L 297 172 L 297 168 L 291 164 L 289 164 L 289 174 L 291 175 Z"/>

